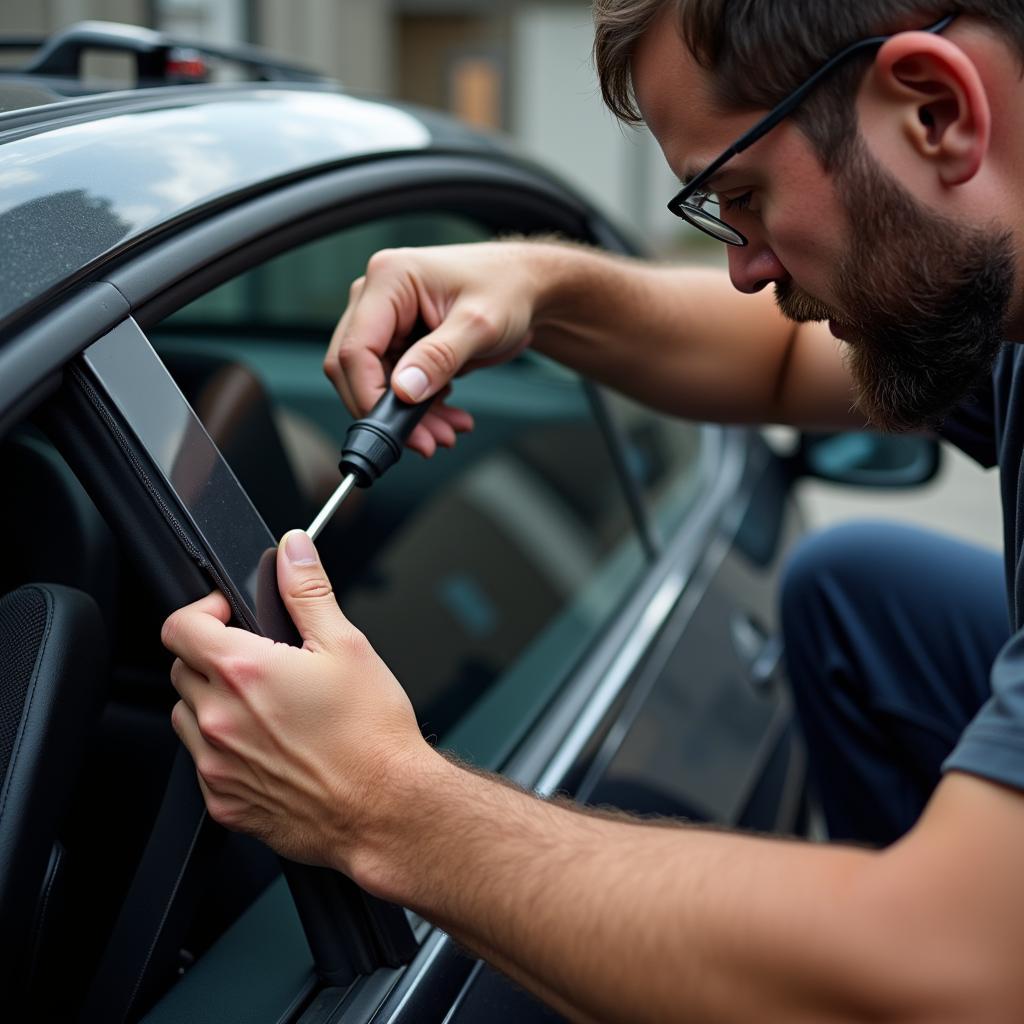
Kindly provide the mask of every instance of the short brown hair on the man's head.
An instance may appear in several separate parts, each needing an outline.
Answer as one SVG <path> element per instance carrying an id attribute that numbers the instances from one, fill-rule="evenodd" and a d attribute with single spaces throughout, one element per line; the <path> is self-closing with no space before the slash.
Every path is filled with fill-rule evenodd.
<path id="1" fill-rule="evenodd" d="M 858 39 L 924 28 L 944 14 L 993 23 L 1024 60 L 1021 0 L 595 0 L 594 62 L 601 94 L 630 124 L 642 121 L 633 91 L 633 51 L 666 8 L 674 8 L 680 36 L 712 73 L 717 99 L 739 110 L 773 106 Z M 857 84 L 871 58 L 854 57 L 837 69 L 794 115 L 826 165 L 855 134 Z"/>

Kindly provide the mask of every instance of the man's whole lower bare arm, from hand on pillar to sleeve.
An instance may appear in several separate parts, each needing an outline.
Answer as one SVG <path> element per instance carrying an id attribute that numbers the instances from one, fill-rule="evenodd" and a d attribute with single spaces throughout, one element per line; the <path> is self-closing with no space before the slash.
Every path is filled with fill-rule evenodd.
<path id="1" fill-rule="evenodd" d="M 218 593 L 162 632 L 215 821 L 419 910 L 580 1019 L 1024 1020 L 1019 791 L 952 772 L 881 853 L 545 803 L 423 741 L 304 534 L 278 569 L 302 648 L 229 627 Z"/>

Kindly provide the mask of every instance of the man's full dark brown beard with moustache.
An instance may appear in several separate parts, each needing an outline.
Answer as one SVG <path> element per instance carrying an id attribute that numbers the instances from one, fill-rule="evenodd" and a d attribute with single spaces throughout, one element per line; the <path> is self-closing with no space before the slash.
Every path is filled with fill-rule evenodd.
<path id="1" fill-rule="evenodd" d="M 830 319 L 849 336 L 857 408 L 873 427 L 934 428 L 991 373 L 1004 344 L 1016 263 L 1010 232 L 926 210 L 859 140 L 838 183 L 852 225 L 838 308 L 792 282 L 776 285 L 776 302 L 791 319 Z"/>

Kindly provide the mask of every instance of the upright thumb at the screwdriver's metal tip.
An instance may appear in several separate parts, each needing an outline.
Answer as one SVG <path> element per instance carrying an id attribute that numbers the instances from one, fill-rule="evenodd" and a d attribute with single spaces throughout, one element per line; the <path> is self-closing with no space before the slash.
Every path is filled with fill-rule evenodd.
<path id="1" fill-rule="evenodd" d="M 305 530 L 291 530 L 278 545 L 278 589 L 305 647 L 331 647 L 350 629 Z"/>

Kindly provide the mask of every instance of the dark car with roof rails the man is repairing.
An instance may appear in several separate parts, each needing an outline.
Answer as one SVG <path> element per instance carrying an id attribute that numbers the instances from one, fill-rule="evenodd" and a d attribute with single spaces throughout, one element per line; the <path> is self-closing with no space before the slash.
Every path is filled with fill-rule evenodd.
<path id="1" fill-rule="evenodd" d="M 79 94 L 87 46 L 147 60 L 148 87 Z M 211 585 L 268 621 L 246 573 L 338 483 L 350 417 L 322 364 L 375 252 L 642 248 L 508 142 L 266 56 L 242 54 L 276 81 L 204 84 L 201 47 L 93 24 L 43 57 L 0 77 L 8 1019 L 557 1019 L 429 923 L 213 824 L 160 627 Z M 200 81 L 166 84 L 182 61 Z M 915 484 L 935 443 L 783 457 L 528 351 L 456 394 L 476 429 L 318 542 L 424 733 L 544 797 L 806 835 L 774 608 L 793 482 Z"/>

